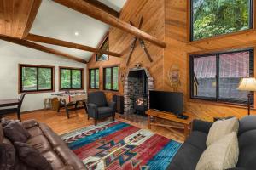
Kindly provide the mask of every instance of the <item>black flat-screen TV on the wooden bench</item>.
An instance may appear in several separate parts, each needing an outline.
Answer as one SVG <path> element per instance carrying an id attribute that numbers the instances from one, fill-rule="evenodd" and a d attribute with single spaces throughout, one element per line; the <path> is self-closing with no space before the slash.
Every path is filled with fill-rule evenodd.
<path id="1" fill-rule="evenodd" d="M 172 112 L 176 115 L 183 114 L 183 93 L 150 91 L 149 108 Z"/>

